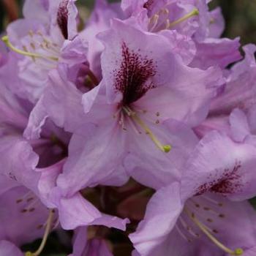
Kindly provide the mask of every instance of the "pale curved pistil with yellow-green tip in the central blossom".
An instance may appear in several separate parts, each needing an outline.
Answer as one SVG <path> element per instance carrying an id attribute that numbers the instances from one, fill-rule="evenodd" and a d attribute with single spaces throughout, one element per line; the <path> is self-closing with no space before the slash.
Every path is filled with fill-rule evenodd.
<path id="1" fill-rule="evenodd" d="M 127 115 L 133 119 L 133 121 L 135 121 L 137 124 L 140 125 L 140 127 L 142 127 L 145 130 L 146 135 L 148 135 L 149 138 L 151 138 L 151 140 L 155 143 L 155 145 L 161 151 L 163 151 L 165 153 L 170 152 L 171 146 L 170 145 L 162 145 L 162 143 L 160 143 L 159 140 L 157 140 L 157 138 L 155 137 L 153 132 L 151 132 L 151 129 L 149 129 L 146 126 L 146 124 L 137 116 L 137 114 L 134 111 L 132 111 L 129 107 L 123 107 L 123 109 L 127 113 Z"/>

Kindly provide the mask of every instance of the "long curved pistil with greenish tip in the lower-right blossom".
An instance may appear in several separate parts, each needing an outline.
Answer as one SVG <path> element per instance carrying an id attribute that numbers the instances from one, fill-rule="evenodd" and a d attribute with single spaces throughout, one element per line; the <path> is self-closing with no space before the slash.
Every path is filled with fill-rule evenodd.
<path id="1" fill-rule="evenodd" d="M 227 246 L 225 246 L 224 244 L 222 244 L 220 241 L 217 240 L 217 238 L 215 238 L 209 231 L 208 228 L 203 225 L 203 223 L 201 223 L 196 217 L 195 214 L 190 213 L 186 208 L 184 209 L 184 211 L 186 212 L 186 214 L 190 217 L 190 219 L 192 219 L 192 222 L 195 223 L 195 225 L 197 225 L 197 227 L 200 228 L 200 230 L 216 245 L 219 247 L 219 249 L 222 249 L 224 252 L 230 254 L 230 255 L 242 255 L 244 253 L 244 250 L 241 248 L 237 248 L 235 250 L 232 250 L 230 248 L 228 248 Z"/>

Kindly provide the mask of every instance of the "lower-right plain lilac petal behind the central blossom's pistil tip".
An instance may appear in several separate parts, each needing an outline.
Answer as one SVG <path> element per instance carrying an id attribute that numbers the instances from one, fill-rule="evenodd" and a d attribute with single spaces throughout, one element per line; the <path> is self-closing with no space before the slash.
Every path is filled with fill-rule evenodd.
<path id="1" fill-rule="evenodd" d="M 148 127 L 161 143 L 170 144 L 170 152 L 163 153 L 144 132 L 138 134 L 129 128 L 127 132 L 132 132 L 132 135 L 129 134 L 129 154 L 124 166 L 136 181 L 159 189 L 180 181 L 181 167 L 197 144 L 197 138 L 189 127 L 174 120 L 162 124 L 148 123 Z"/>

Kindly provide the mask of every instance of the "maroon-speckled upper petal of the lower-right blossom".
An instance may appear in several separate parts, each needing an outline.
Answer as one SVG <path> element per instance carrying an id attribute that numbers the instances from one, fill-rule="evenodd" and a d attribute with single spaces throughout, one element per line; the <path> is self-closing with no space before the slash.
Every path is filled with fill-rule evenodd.
<path id="1" fill-rule="evenodd" d="M 211 191 L 233 200 L 254 197 L 255 156 L 254 146 L 210 132 L 200 140 L 184 167 L 181 183 L 186 186 L 182 193 L 201 195 Z"/>

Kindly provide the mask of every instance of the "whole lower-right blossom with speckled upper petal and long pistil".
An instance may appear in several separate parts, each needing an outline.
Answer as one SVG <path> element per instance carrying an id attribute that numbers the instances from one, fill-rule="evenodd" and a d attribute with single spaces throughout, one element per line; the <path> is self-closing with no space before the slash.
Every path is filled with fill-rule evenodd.
<path id="1" fill-rule="evenodd" d="M 205 255 L 209 248 L 212 255 L 241 255 L 254 246 L 252 206 L 230 199 L 255 195 L 255 154 L 253 146 L 217 132 L 203 138 L 184 165 L 181 188 L 159 189 L 138 231 L 129 236 L 140 255 L 165 255 L 170 249 L 177 255 Z"/>

